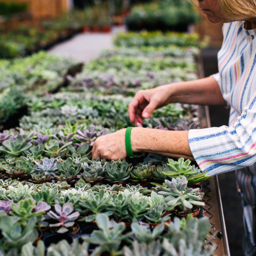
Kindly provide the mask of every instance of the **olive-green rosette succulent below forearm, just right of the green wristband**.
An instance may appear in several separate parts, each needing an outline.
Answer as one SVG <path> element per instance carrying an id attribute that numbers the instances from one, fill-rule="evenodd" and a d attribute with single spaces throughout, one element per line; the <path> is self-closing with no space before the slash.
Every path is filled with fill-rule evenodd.
<path id="1" fill-rule="evenodd" d="M 130 180 L 137 183 L 145 183 L 149 181 L 152 177 L 152 172 L 155 170 L 155 166 L 147 164 L 146 162 L 141 163 L 139 166 L 136 166 L 135 169 L 130 173 Z"/>

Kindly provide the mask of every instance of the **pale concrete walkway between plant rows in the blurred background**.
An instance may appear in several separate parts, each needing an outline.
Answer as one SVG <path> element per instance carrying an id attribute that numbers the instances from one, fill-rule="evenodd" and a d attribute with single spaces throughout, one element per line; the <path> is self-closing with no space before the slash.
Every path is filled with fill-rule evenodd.
<path id="1" fill-rule="evenodd" d="M 73 57 L 82 62 L 99 57 L 103 49 L 111 49 L 114 45 L 112 37 L 117 32 L 125 31 L 124 27 L 114 27 L 109 34 L 78 34 L 68 41 L 52 47 L 48 52 L 58 56 Z"/>

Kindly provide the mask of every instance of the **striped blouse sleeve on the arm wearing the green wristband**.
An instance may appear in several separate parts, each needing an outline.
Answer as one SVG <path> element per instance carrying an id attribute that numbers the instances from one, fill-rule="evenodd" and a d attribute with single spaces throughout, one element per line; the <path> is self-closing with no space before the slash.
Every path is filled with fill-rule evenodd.
<path id="1" fill-rule="evenodd" d="M 256 93 L 231 126 L 193 129 L 188 133 L 192 154 L 210 175 L 256 162 Z"/>

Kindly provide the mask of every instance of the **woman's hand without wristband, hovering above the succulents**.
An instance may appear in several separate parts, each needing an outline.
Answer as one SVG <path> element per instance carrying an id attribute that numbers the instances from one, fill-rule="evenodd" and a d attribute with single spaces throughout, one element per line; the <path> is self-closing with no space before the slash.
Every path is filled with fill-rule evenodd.
<path id="1" fill-rule="evenodd" d="M 131 122 L 143 124 L 143 119 L 150 117 L 155 109 L 169 104 L 170 97 L 170 84 L 136 92 L 128 107 Z"/>

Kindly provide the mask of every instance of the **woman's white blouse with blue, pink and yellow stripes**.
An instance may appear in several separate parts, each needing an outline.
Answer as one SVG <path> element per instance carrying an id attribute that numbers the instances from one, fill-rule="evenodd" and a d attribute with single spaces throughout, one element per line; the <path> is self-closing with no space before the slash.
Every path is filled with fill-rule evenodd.
<path id="1" fill-rule="evenodd" d="M 210 175 L 250 165 L 256 169 L 256 29 L 245 30 L 244 21 L 236 21 L 222 30 L 219 73 L 213 77 L 231 106 L 229 124 L 188 134 L 197 164 Z"/>

